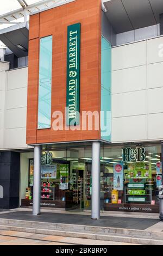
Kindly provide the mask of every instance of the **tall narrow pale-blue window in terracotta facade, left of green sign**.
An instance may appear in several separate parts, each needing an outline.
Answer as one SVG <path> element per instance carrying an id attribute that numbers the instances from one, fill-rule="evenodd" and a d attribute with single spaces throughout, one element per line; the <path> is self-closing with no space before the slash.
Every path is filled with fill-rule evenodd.
<path id="1" fill-rule="evenodd" d="M 52 35 L 40 39 L 38 129 L 51 127 Z"/>

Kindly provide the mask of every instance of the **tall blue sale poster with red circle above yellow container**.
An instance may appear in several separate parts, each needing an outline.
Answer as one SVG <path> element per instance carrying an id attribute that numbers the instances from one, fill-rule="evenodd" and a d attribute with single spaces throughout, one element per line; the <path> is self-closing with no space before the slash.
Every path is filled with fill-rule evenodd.
<path id="1" fill-rule="evenodd" d="M 114 190 L 123 190 L 123 163 L 114 163 Z"/>

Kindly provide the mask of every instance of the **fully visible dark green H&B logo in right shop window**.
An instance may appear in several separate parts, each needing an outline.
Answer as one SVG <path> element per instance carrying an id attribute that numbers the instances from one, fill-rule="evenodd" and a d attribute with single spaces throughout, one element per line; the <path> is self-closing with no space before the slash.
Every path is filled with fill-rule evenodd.
<path id="1" fill-rule="evenodd" d="M 146 150 L 143 147 L 123 148 L 122 149 L 122 162 L 143 162 L 146 161 Z"/>

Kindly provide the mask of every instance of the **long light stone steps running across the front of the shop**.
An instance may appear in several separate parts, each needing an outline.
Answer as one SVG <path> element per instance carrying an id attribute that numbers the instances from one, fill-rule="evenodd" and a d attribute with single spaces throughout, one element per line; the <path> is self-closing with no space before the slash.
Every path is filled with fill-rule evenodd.
<path id="1" fill-rule="evenodd" d="M 0 219 L 0 229 L 141 245 L 163 245 L 163 232 Z"/>

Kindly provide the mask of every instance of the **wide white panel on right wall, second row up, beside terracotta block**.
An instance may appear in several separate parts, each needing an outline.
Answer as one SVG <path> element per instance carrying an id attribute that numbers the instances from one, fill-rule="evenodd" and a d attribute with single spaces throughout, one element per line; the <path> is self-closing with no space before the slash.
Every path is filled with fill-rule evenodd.
<path id="1" fill-rule="evenodd" d="M 147 91 L 112 95 L 112 118 L 147 114 Z"/>

